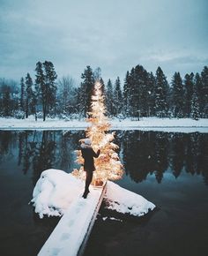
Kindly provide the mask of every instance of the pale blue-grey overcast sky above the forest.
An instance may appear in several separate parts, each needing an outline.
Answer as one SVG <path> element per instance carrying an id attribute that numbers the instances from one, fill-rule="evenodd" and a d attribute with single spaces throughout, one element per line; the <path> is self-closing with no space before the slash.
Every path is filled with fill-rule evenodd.
<path id="1" fill-rule="evenodd" d="M 0 77 L 50 60 L 77 81 L 86 65 L 123 80 L 142 64 L 201 72 L 208 64 L 207 0 L 0 0 Z"/>

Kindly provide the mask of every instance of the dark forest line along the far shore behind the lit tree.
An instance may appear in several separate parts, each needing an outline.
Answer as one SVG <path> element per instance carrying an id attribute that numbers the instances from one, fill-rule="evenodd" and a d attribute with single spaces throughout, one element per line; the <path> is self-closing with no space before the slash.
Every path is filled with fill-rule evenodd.
<path id="1" fill-rule="evenodd" d="M 100 80 L 108 117 L 208 117 L 208 67 L 201 73 L 175 72 L 170 83 L 160 67 L 155 75 L 142 65 L 126 73 L 123 84 L 108 79 L 105 85 L 100 68 L 86 66 L 78 87 L 70 77 L 57 80 L 54 64 L 38 62 L 35 79 L 29 73 L 20 83 L 0 79 L 0 115 L 27 118 L 87 117 L 95 80 Z"/>

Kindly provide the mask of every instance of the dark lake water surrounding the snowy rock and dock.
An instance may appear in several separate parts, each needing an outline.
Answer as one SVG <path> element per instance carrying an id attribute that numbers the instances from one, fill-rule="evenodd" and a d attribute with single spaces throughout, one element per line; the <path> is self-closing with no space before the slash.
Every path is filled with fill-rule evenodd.
<path id="1" fill-rule="evenodd" d="M 144 219 L 102 207 L 86 255 L 207 255 L 208 134 L 116 132 L 125 175 L 117 182 L 151 200 Z M 58 219 L 40 220 L 28 205 L 48 168 L 71 172 L 83 131 L 0 132 L 0 252 L 33 256 Z M 123 222 L 104 221 L 114 215 Z"/>

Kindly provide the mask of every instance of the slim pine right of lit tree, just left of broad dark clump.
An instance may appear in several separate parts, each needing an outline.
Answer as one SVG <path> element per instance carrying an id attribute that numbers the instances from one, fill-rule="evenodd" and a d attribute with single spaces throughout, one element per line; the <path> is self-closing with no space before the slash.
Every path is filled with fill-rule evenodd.
<path id="1" fill-rule="evenodd" d="M 115 90 L 114 90 L 114 115 L 115 117 L 121 114 L 122 112 L 122 90 L 121 90 L 121 82 L 119 77 L 115 80 Z"/>

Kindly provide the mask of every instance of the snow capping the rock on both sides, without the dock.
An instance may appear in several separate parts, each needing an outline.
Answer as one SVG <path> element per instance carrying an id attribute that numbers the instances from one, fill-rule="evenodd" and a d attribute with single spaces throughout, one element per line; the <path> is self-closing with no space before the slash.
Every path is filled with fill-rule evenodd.
<path id="1" fill-rule="evenodd" d="M 82 199 L 85 184 L 60 169 L 47 169 L 41 173 L 33 189 L 33 203 L 35 213 L 42 218 L 44 215 L 61 216 L 71 207 L 71 204 Z M 93 197 L 93 186 L 87 197 Z M 130 192 L 118 184 L 108 181 L 105 196 L 108 208 L 122 214 L 141 216 L 155 206 L 140 195 Z"/>

